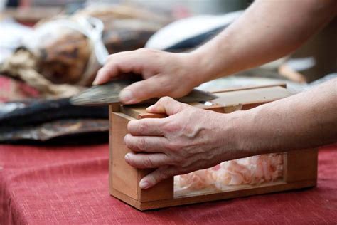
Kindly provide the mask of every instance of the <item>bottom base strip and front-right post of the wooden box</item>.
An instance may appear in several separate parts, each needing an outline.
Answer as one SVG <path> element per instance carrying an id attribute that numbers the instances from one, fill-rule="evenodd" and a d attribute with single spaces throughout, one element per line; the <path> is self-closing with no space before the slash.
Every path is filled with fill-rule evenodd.
<path id="1" fill-rule="evenodd" d="M 116 189 L 113 190 L 113 195 L 118 199 L 121 199 L 123 202 L 126 202 L 127 204 L 130 204 L 139 210 L 148 210 L 148 209 L 159 209 L 168 206 L 195 204 L 199 202 L 216 201 L 219 199 L 231 199 L 235 197 L 246 197 L 256 194 L 267 194 L 271 192 L 282 192 L 291 189 L 314 187 L 316 186 L 316 175 L 317 175 L 315 172 L 316 170 L 315 169 L 306 170 L 304 168 L 306 167 L 314 168 L 314 165 L 317 164 L 317 152 L 318 151 L 316 149 L 311 149 L 311 150 L 298 150 L 285 154 L 284 155 L 285 159 L 290 160 L 284 164 L 284 175 L 285 175 L 284 179 L 278 182 L 251 185 L 250 187 L 231 189 L 225 192 L 201 194 L 193 197 L 178 197 L 176 199 L 174 198 L 161 199 L 150 202 L 135 201 L 134 199 L 123 194 L 122 192 L 119 192 Z M 292 159 L 293 155 L 296 155 L 294 159 Z M 300 172 L 294 170 L 293 168 L 300 169 Z M 298 177 L 300 173 L 301 175 L 304 174 L 304 177 Z M 289 178 L 292 178 L 293 180 L 290 181 Z"/>

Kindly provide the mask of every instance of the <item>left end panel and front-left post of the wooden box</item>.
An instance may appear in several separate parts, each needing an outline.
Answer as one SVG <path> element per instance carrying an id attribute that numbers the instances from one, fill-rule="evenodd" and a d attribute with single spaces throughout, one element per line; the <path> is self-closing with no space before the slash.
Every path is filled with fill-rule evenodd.
<path id="1" fill-rule="evenodd" d="M 173 198 L 173 177 L 160 182 L 155 187 L 144 190 L 139 188 L 140 180 L 151 172 L 151 169 L 136 169 L 127 162 L 124 156 L 132 152 L 124 145 L 124 136 L 127 135 L 127 123 L 134 118 L 119 112 L 112 112 L 110 107 L 112 132 L 110 132 L 110 164 L 109 189 L 110 194 L 117 190 L 140 202 L 154 201 L 155 199 Z M 118 129 L 114 129 L 118 127 Z"/>

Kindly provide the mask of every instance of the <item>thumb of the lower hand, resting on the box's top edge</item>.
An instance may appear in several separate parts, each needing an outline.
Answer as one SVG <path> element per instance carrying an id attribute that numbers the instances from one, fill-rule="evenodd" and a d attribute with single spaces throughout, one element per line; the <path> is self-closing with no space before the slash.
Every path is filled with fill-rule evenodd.
<path id="1" fill-rule="evenodd" d="M 150 113 L 161 113 L 166 115 L 174 115 L 181 112 L 183 109 L 188 108 L 189 105 L 184 103 L 179 103 L 170 97 L 163 97 L 156 102 L 156 104 L 146 108 L 147 112 Z"/>

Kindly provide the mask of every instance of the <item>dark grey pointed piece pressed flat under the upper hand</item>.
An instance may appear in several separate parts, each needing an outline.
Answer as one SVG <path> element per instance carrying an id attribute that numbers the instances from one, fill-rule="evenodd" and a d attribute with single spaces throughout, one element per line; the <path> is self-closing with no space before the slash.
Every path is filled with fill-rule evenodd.
<path id="1" fill-rule="evenodd" d="M 119 103 L 119 93 L 128 85 L 134 83 L 134 80 L 114 80 L 105 85 L 97 85 L 70 98 L 73 105 L 108 105 Z M 208 101 L 217 98 L 216 95 L 207 93 L 203 90 L 193 89 L 188 95 L 178 98 L 181 103 L 196 103 Z M 146 100 L 146 103 L 156 103 L 158 98 Z"/>

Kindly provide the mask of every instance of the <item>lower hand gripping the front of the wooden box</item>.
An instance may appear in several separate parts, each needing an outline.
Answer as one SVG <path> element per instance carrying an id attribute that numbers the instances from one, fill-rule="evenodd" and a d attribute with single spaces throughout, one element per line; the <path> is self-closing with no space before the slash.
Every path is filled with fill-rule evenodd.
<path id="1" fill-rule="evenodd" d="M 146 109 L 169 117 L 132 120 L 124 142 L 133 151 L 125 160 L 140 169 L 157 168 L 141 179 L 147 189 L 163 179 L 215 166 L 237 157 L 232 116 L 195 108 L 169 97 Z"/>

